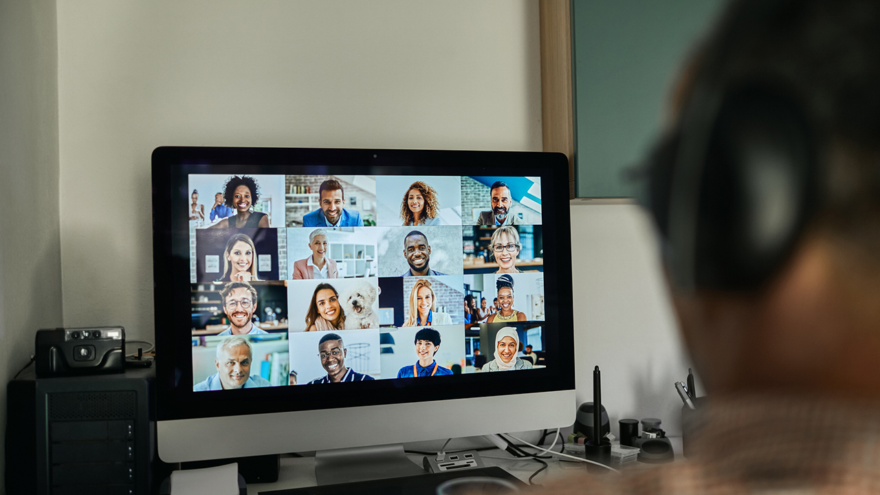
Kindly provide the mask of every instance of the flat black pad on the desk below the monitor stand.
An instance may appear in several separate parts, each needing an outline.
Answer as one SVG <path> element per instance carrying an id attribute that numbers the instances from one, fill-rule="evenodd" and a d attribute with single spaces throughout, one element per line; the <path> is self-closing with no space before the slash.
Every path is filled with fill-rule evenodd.
<path id="1" fill-rule="evenodd" d="M 437 486 L 444 481 L 459 477 L 497 477 L 519 487 L 525 487 L 519 478 L 514 477 L 497 466 L 491 468 L 467 469 L 466 471 L 444 471 L 442 473 L 396 477 L 361 481 L 357 483 L 324 484 L 309 488 L 290 490 L 260 491 L 260 495 L 374 495 L 388 493 L 393 495 L 435 495 Z"/>

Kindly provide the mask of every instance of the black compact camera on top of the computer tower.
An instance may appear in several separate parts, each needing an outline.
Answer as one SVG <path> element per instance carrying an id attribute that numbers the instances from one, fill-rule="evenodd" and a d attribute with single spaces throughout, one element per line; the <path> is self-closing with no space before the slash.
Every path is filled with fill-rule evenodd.
<path id="1" fill-rule="evenodd" d="M 122 373 L 124 350 L 122 327 L 37 330 L 37 376 Z"/>

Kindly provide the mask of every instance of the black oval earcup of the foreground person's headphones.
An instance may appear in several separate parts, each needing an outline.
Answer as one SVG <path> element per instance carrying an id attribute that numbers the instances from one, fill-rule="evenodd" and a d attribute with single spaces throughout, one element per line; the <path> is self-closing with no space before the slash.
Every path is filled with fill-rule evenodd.
<path id="1" fill-rule="evenodd" d="M 693 284 L 754 290 L 788 259 L 814 210 L 810 128 L 793 101 L 749 87 L 723 96 L 709 136 L 693 216 Z"/>

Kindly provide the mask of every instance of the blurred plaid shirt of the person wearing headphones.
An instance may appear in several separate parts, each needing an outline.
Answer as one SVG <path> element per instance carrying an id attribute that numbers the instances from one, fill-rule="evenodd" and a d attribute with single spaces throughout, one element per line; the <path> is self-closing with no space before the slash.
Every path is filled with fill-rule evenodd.
<path id="1" fill-rule="evenodd" d="M 699 437 L 687 440 L 687 460 L 568 478 L 541 492 L 880 493 L 880 403 L 750 396 L 706 409 Z"/>

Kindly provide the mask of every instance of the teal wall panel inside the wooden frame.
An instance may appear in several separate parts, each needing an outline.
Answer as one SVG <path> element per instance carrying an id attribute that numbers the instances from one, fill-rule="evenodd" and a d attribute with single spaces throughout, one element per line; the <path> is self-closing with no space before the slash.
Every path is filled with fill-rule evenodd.
<path id="1" fill-rule="evenodd" d="M 634 196 L 624 171 L 659 135 L 666 100 L 722 0 L 572 0 L 576 196 Z"/>

